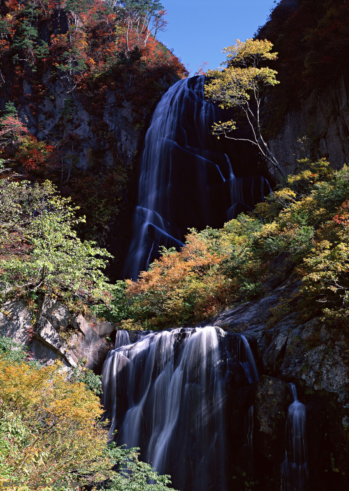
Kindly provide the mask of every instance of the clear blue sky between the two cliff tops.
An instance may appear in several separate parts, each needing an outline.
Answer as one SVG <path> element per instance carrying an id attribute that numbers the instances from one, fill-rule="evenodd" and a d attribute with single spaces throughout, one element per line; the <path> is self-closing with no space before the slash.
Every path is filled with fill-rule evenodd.
<path id="1" fill-rule="evenodd" d="M 167 31 L 158 38 L 181 57 L 192 75 L 203 60 L 211 69 L 224 61 L 223 47 L 245 40 L 265 23 L 273 0 L 162 0 Z"/>

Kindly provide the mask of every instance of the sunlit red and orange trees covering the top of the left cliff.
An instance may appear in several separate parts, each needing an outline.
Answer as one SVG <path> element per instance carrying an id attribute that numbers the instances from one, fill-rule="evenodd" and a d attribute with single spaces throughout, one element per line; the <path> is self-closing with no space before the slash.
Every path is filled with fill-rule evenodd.
<path id="1" fill-rule="evenodd" d="M 75 90 L 88 109 L 99 115 L 108 90 L 115 90 L 119 102 L 131 101 L 142 119 L 143 110 L 162 90 L 161 78 L 181 78 L 186 72 L 178 58 L 154 38 L 166 12 L 154 11 L 154 19 L 141 9 L 137 27 L 130 24 L 134 11 L 126 8 L 127 3 L 2 2 L 2 96 L 15 102 L 17 109 L 29 105 L 35 113 L 38 103 L 50 96 L 49 86 L 42 82 L 45 74 L 52 81 L 65 80 L 67 90 Z M 29 93 L 24 81 L 32 84 Z"/>

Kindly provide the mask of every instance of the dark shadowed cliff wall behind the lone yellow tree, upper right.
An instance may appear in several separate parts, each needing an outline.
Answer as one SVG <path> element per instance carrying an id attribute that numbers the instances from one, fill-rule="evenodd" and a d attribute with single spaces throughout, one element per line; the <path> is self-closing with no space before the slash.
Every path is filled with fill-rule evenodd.
<path id="1" fill-rule="evenodd" d="M 280 84 L 264 106 L 270 146 L 286 172 L 304 158 L 326 157 L 339 168 L 349 159 L 348 2 L 275 3 L 256 33 L 278 53 L 270 68 Z"/>

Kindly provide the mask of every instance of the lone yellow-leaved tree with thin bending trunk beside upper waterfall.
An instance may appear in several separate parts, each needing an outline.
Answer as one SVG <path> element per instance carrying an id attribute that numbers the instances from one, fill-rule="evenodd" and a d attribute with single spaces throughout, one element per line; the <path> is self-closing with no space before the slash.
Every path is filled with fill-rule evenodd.
<path id="1" fill-rule="evenodd" d="M 236 129 L 235 121 L 219 121 L 213 125 L 213 134 L 224 135 L 233 140 L 249 141 L 257 145 L 262 156 L 285 177 L 285 172 L 271 152 L 262 136 L 261 108 L 264 99 L 264 88 L 279 83 L 276 80 L 277 72 L 262 66 L 267 60 L 276 59 L 277 53 L 271 53 L 273 45 L 266 39 L 264 41 L 246 39 L 245 42 L 236 40 L 233 46 L 223 48 L 227 53 L 225 69 L 208 70 L 208 83 L 205 86 L 206 97 L 218 103 L 222 109 L 240 108 L 245 112 L 247 122 L 251 129 L 251 136 L 247 138 L 233 137 L 231 133 Z"/>

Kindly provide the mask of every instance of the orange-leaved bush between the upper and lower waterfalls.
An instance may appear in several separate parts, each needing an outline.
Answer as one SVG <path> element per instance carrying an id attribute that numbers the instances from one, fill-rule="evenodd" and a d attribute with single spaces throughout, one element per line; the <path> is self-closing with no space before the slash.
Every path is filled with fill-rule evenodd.
<path id="1" fill-rule="evenodd" d="M 225 259 L 196 231 L 186 237 L 179 252 L 165 250 L 137 282 L 127 282 L 126 296 L 137 322 L 150 328 L 174 326 L 217 313 L 231 293 L 231 282 L 219 270 Z"/>

